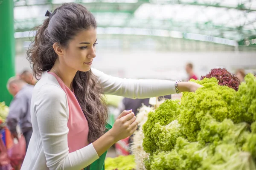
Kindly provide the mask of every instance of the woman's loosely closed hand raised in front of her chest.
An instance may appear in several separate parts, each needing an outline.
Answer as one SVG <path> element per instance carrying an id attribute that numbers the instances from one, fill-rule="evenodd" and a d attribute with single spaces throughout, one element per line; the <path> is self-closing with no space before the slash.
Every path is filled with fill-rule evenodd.
<path id="1" fill-rule="evenodd" d="M 138 122 L 132 110 L 123 111 L 116 119 L 112 129 L 109 130 L 109 133 L 113 136 L 114 141 L 117 142 L 131 136 L 137 129 L 137 125 Z"/>

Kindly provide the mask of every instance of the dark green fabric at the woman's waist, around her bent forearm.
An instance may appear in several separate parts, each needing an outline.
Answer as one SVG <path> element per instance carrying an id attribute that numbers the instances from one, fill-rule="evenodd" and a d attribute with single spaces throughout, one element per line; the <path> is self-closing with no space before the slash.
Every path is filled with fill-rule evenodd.
<path id="1" fill-rule="evenodd" d="M 110 130 L 111 128 L 112 128 L 112 126 L 107 124 L 106 125 L 106 132 L 108 132 L 108 130 Z M 99 157 L 99 159 L 94 161 L 88 167 L 84 168 L 84 170 L 105 170 L 105 158 L 106 158 L 107 152 L 108 151 L 103 153 L 102 156 Z"/>

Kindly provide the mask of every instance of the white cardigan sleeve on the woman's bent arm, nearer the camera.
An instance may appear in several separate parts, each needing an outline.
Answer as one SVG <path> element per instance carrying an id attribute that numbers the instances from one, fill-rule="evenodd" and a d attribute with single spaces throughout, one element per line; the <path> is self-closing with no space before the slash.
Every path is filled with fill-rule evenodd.
<path id="1" fill-rule="evenodd" d="M 81 170 L 99 159 L 92 144 L 69 153 L 66 98 L 60 87 L 46 84 L 33 105 L 49 170 Z"/>

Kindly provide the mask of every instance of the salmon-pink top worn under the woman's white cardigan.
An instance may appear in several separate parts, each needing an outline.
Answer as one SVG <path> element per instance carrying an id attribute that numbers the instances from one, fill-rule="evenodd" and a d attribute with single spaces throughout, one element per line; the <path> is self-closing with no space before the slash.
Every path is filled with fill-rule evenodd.
<path id="1" fill-rule="evenodd" d="M 69 118 L 67 127 L 69 132 L 67 134 L 67 142 L 69 153 L 79 150 L 88 145 L 89 126 L 86 117 L 76 99 L 75 94 L 64 84 L 64 82 L 56 74 L 52 74 L 61 85 L 61 88 L 67 95 L 67 102 L 69 108 Z"/>

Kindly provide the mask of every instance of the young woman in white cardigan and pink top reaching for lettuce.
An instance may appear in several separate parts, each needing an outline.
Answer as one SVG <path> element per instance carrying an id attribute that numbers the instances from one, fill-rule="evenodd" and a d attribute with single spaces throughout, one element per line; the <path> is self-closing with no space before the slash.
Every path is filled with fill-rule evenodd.
<path id="1" fill-rule="evenodd" d="M 123 111 L 105 132 L 108 112 L 103 93 L 135 99 L 201 87 L 193 82 L 108 76 L 91 68 L 96 20 L 84 6 L 65 3 L 46 16 L 27 53 L 41 79 L 32 95 L 33 133 L 21 170 L 82 170 L 134 133 L 132 111 Z"/>

